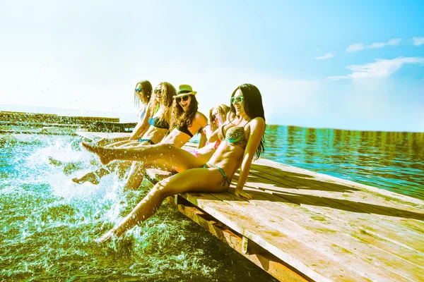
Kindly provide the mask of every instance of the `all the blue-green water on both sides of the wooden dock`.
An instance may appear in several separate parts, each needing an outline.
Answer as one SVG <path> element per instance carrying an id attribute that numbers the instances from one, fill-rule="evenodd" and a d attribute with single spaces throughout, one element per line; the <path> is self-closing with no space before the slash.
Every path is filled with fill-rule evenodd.
<path id="1" fill-rule="evenodd" d="M 423 135 L 269 125 L 264 157 L 423 197 Z M 122 240 L 93 243 L 152 185 L 124 192 L 117 173 L 73 183 L 98 167 L 80 142 L 0 135 L 0 280 L 275 281 L 167 203 Z M 80 167 L 64 171 L 49 157 Z"/>

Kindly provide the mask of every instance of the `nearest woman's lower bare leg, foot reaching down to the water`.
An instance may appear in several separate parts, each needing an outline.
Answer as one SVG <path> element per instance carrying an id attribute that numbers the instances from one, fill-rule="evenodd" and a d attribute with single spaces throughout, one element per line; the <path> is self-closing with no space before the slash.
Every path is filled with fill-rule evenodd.
<path id="1" fill-rule="evenodd" d="M 156 212 L 166 197 L 189 191 L 224 192 L 228 185 L 217 184 L 222 177 L 216 168 L 192 168 L 160 181 L 119 225 L 114 226 L 96 241 L 101 243 L 111 239 L 112 236 L 119 237 L 136 224 L 145 221 Z"/>

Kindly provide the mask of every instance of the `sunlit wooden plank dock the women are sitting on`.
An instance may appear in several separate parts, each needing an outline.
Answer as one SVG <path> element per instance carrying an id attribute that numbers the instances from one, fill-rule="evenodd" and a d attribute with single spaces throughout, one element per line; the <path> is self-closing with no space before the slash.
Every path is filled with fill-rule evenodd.
<path id="1" fill-rule="evenodd" d="M 234 188 L 167 201 L 280 281 L 424 281 L 423 200 L 266 159 Z"/>

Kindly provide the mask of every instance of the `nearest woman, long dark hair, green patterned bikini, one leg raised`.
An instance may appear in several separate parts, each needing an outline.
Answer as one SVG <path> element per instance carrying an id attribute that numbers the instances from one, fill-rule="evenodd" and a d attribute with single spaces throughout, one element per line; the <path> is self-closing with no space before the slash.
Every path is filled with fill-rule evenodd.
<path id="1" fill-rule="evenodd" d="M 109 149 L 83 142 L 86 149 L 98 154 L 103 164 L 113 159 L 152 161 L 160 154 L 175 154 L 175 158 L 181 160 L 177 166 L 185 168 L 182 172 L 155 184 L 132 212 L 99 238 L 98 242 L 108 240 L 112 236 L 119 237 L 137 223 L 145 221 L 155 213 L 166 197 L 183 192 L 225 192 L 238 168 L 240 176 L 235 186 L 235 195 L 252 199 L 253 195 L 243 191 L 243 187 L 254 155 L 259 157 L 264 152 L 265 130 L 264 106 L 257 87 L 243 84 L 232 92 L 229 117 L 229 121 L 221 125 L 210 138 L 214 141 L 220 135 L 222 139 L 206 164 L 189 152 L 170 145 L 148 146 L 147 149 Z"/>

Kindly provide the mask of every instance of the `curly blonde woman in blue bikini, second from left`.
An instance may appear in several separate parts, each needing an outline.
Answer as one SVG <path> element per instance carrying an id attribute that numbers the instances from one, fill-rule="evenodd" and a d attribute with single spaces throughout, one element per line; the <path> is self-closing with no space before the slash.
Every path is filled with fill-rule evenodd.
<path id="1" fill-rule="evenodd" d="M 169 130 L 172 97 L 177 94 L 177 91 L 169 82 L 160 82 L 156 86 L 154 94 L 154 99 L 148 105 L 143 123 L 135 128 L 129 140 L 114 142 L 112 147 L 127 148 L 154 145 L 165 137 Z M 131 162 L 114 162 L 108 164 L 107 168 L 99 168 L 86 173 L 84 176 L 73 178 L 72 181 L 78 184 L 86 181 L 98 184 L 100 178 L 109 174 L 114 168 L 119 167 L 119 171 L 123 173 L 131 164 Z"/>

